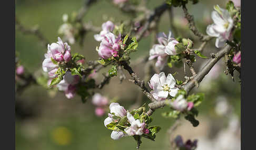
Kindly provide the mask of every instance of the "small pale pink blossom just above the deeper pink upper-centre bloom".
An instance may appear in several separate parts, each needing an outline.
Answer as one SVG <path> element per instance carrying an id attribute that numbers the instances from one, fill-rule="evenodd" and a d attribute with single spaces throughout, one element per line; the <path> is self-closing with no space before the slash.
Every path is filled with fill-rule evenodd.
<path id="1" fill-rule="evenodd" d="M 102 31 L 100 34 L 94 35 L 96 41 L 101 41 L 107 33 L 114 30 L 115 25 L 111 21 L 107 21 L 102 24 Z"/>

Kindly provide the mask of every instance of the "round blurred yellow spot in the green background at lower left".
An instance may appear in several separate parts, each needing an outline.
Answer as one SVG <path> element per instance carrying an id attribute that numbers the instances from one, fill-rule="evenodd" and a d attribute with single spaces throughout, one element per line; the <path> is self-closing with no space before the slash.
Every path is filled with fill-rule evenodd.
<path id="1" fill-rule="evenodd" d="M 66 127 L 60 126 L 53 130 L 52 138 L 58 145 L 68 145 L 71 143 L 72 134 Z"/>

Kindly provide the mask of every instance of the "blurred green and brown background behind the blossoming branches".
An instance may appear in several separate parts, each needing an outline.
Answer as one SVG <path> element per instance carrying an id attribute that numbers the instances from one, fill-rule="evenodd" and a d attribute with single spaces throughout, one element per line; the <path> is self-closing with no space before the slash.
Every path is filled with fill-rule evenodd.
<path id="1" fill-rule="evenodd" d="M 153 9 L 164 1 L 149 0 L 148 2 L 148 7 Z M 205 33 L 206 26 L 212 23 L 211 11 L 213 5 L 219 4 L 221 7 L 225 7 L 226 2 L 219 0 L 202 1 L 196 5 L 188 5 L 189 12 L 194 15 L 196 25 L 200 31 Z M 17 0 L 16 17 L 25 27 L 31 28 L 38 25 L 43 35 L 50 42 L 56 42 L 57 30 L 63 24 L 62 15 L 71 15 L 81 8 L 83 3 L 82 0 Z M 179 27 L 179 34 L 183 37 L 196 39 L 188 30 L 188 25 L 184 24 L 184 15 L 181 8 L 174 8 L 173 12 L 174 25 Z M 131 19 L 132 17 L 121 12 L 111 1 L 99 1 L 88 9 L 83 22 L 91 21 L 93 25 L 101 26 L 106 21 L 103 16 L 114 19 L 115 22 Z M 169 27 L 169 15 L 168 12 L 165 12 L 160 20 L 159 31 L 168 33 Z M 95 47 L 99 46 L 99 42 L 94 40 L 94 34 L 96 33 L 86 34 L 83 46 L 74 44 L 72 45 L 72 51 L 83 54 L 87 60 L 97 59 L 98 55 Z M 24 35 L 19 30 L 16 30 L 15 35 L 15 49 L 19 53 L 19 60 L 25 66 L 26 71 L 41 71 L 44 53 L 47 48 L 42 46 L 34 35 Z M 132 60 L 149 55 L 151 37 L 152 35 L 140 41 L 139 51 L 133 53 Z M 206 46 L 204 55 L 210 56 L 211 52 L 218 51 L 214 47 L 214 42 L 215 40 L 212 40 Z M 198 45 L 195 42 L 195 47 Z M 198 58 L 195 69 L 199 70 L 204 62 L 205 60 Z M 140 73 L 141 68 L 143 68 L 142 65 L 133 67 L 140 77 L 144 76 L 143 72 Z M 224 64 L 219 63 L 219 70 L 210 72 L 217 78 L 211 76 L 212 78 L 207 79 L 207 81 L 204 79 L 200 88 L 194 90 L 194 92 L 205 92 L 205 101 L 199 107 L 198 120 L 200 125 L 194 128 L 188 121 L 183 121 L 182 123 L 188 124 L 188 126 L 181 128 L 182 134 L 175 134 L 181 134 L 185 139 L 192 138 L 193 140 L 199 136 L 205 138 L 214 136 L 215 131 L 227 128 L 229 116 L 225 114 L 218 115 L 215 111 L 219 97 L 227 100 L 230 108 L 232 108 L 232 114 L 238 116 L 240 122 L 241 93 L 239 79 L 235 74 L 236 78 L 233 82 L 230 76 L 223 74 L 224 68 Z M 181 80 L 184 77 L 183 70 L 183 68 L 166 67 L 165 73 L 178 71 L 179 73 L 175 78 Z M 103 71 L 106 71 L 106 69 Z M 127 79 L 122 84 L 120 84 L 118 77 L 114 77 L 110 84 L 107 84 L 102 91 L 98 92 L 110 99 L 118 98 L 119 103 L 125 109 L 129 109 L 141 91 L 136 85 L 128 81 L 130 79 L 129 74 L 126 72 L 125 74 Z M 100 82 L 101 79 L 102 75 L 99 73 L 96 82 Z M 143 99 L 142 104 L 144 102 L 148 103 L 146 98 Z M 94 109 L 95 107 L 91 101 L 83 104 L 78 96 L 68 100 L 62 92 L 55 94 L 53 91 L 32 85 L 23 93 L 16 94 L 16 149 L 135 149 L 135 141 L 132 137 L 124 137 L 118 141 L 112 140 L 110 138 L 111 131 L 107 130 L 103 124 L 106 116 L 97 117 L 94 114 Z M 152 142 L 143 138 L 140 149 L 170 149 L 167 131 L 173 124 L 173 120 L 161 116 L 161 113 L 165 111 L 168 111 L 168 108 L 159 109 L 152 115 L 152 125 L 162 127 L 162 130 L 156 135 L 156 141 Z M 205 126 L 208 127 L 208 130 L 205 130 Z M 200 140 L 198 144 L 200 145 Z"/>

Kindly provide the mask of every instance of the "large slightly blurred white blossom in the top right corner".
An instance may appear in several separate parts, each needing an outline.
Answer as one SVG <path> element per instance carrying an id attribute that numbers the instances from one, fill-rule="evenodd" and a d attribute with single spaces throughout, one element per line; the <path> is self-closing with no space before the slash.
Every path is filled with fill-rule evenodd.
<path id="1" fill-rule="evenodd" d="M 214 6 L 214 9 L 215 11 L 212 12 L 214 24 L 207 27 L 206 33 L 209 36 L 216 37 L 215 46 L 220 48 L 230 39 L 233 20 L 228 10 L 220 8 L 219 5 Z"/>

